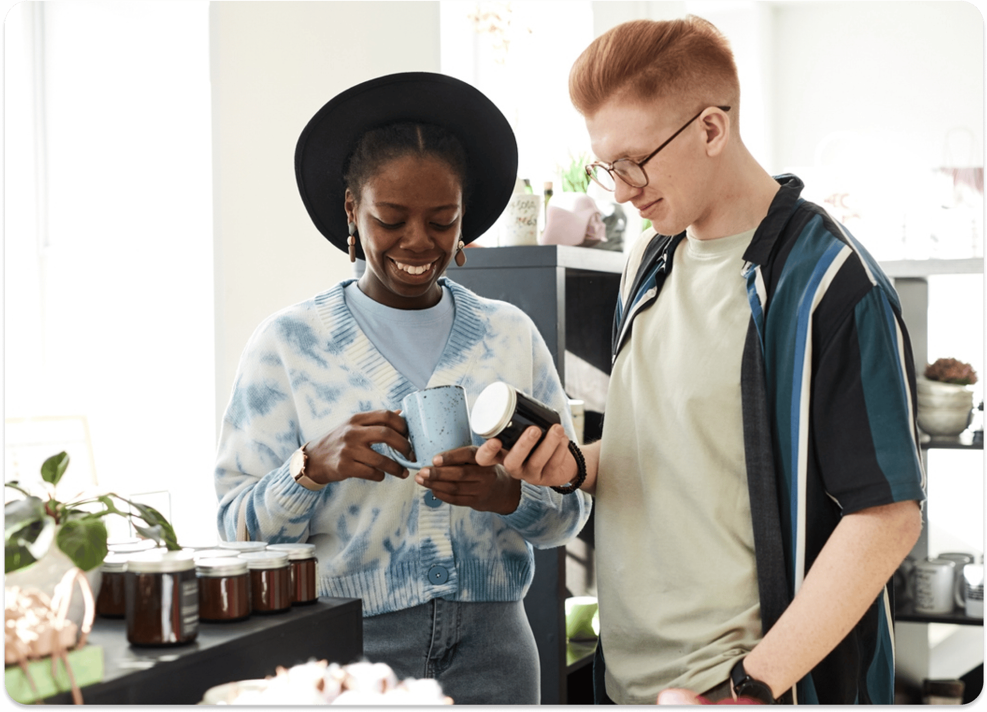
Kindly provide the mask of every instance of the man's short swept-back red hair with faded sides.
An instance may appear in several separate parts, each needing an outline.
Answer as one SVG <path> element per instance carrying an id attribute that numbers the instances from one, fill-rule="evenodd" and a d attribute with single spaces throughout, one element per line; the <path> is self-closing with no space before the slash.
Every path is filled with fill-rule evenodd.
<path id="1" fill-rule="evenodd" d="M 633 20 L 593 40 L 569 71 L 569 98 L 592 116 L 616 95 L 673 98 L 689 106 L 730 106 L 737 116 L 740 83 L 729 42 L 695 15 Z M 735 120 L 735 119 L 734 119 Z"/>

